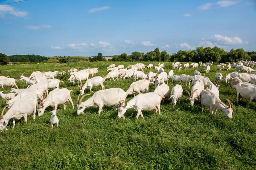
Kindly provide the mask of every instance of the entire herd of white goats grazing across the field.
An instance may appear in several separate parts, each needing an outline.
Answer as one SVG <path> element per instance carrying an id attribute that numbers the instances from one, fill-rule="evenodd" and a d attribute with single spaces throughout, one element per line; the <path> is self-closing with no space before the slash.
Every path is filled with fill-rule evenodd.
<path id="1" fill-rule="evenodd" d="M 205 69 L 205 74 L 210 71 L 210 65 L 213 62 L 198 62 L 198 63 L 188 63 L 183 64 L 184 68 L 198 68 L 201 66 Z M 232 72 L 230 74 L 222 75 L 219 71 L 221 69 L 227 69 L 228 71 L 231 68 L 231 65 L 239 72 Z M 182 75 L 174 75 L 174 72 L 171 70 L 167 74 L 164 71 L 164 64 L 158 63 L 154 68 L 156 69 L 156 73 L 150 71 L 148 74 L 143 72 L 145 69 L 145 65 L 141 63 L 137 63 L 136 65 L 129 65 L 127 68 L 124 68 L 124 65 L 109 65 L 107 68 L 108 74 L 102 77 L 97 76 L 93 77 L 94 74 L 98 73 L 98 68 L 88 68 L 81 71 L 78 71 L 76 68 L 70 69 L 70 78 L 68 79 L 71 83 L 75 84 L 77 81 L 77 85 L 80 91 L 80 94 L 77 98 L 77 115 L 80 113 L 83 114 L 85 108 L 90 106 L 96 106 L 99 108 L 98 113 L 102 112 L 103 106 L 115 106 L 118 105 L 118 115 L 117 118 L 124 118 L 125 112 L 129 108 L 134 108 L 137 111 L 136 121 L 139 116 L 143 117 L 142 111 L 152 111 L 155 110 L 155 113 L 159 113 L 160 115 L 160 103 L 163 99 L 172 99 L 173 107 L 175 107 L 176 103 L 179 101 L 183 95 L 183 85 L 187 86 L 189 83 L 189 88 L 191 86 L 191 93 L 186 90 L 188 94 L 188 100 L 191 105 L 194 104 L 195 100 L 201 101 L 202 111 L 204 111 L 204 107 L 209 108 L 210 113 L 212 114 L 213 119 L 213 111 L 220 109 L 223 111 L 230 119 L 232 119 L 233 106 L 229 99 L 224 99 L 227 101 L 228 105 L 225 105 L 221 99 L 219 98 L 219 83 L 221 80 L 224 80 L 226 83 L 231 83 L 231 87 L 236 89 L 237 92 L 237 102 L 239 102 L 239 98 L 250 99 L 249 105 L 253 99 L 256 99 L 256 72 L 253 72 L 253 66 L 256 66 L 256 62 L 247 62 L 247 61 L 239 61 L 237 63 L 229 63 L 224 64 L 220 63 L 217 65 L 218 73 L 215 74 L 216 82 L 211 82 L 208 77 L 201 75 L 201 73 L 197 70 L 194 71 L 193 76 L 189 76 L 186 74 Z M 147 68 L 153 68 L 153 64 L 149 64 Z M 176 62 L 172 64 L 172 68 L 177 68 L 180 70 L 182 65 L 180 62 Z M 242 73 L 245 71 L 246 73 Z M 248 74 L 250 72 L 250 74 Z M 251 73 L 253 72 L 253 73 Z M 12 86 L 9 94 L 3 94 L 3 91 L 0 92 L 0 96 L 4 98 L 6 102 L 6 106 L 3 108 L 1 112 L 0 118 L 0 131 L 2 132 L 4 129 L 7 130 L 6 126 L 9 123 L 9 120 L 12 119 L 12 128 L 15 127 L 15 120 L 24 117 L 25 122 L 27 122 L 27 116 L 32 114 L 32 118 L 35 119 L 36 111 L 38 111 L 38 116 L 44 114 L 45 109 L 48 106 L 53 107 L 53 111 L 50 113 L 50 124 L 57 124 L 58 126 L 58 118 L 56 116 L 56 112 L 58 112 L 58 105 L 64 105 L 64 110 L 66 109 L 67 103 L 71 103 L 73 108 L 74 104 L 71 99 L 70 93 L 72 90 L 68 90 L 67 88 L 59 88 L 59 84 L 63 81 L 56 79 L 57 74 L 65 74 L 64 72 L 58 71 L 49 71 L 49 72 L 40 72 L 34 71 L 29 77 L 25 77 L 21 74 L 20 81 L 25 80 L 27 88 L 18 89 L 16 79 L 10 78 L 9 76 L 0 76 L 0 86 L 4 88 L 4 86 Z M 91 78 L 89 79 L 89 76 Z M 133 77 L 134 82 L 131 83 L 128 90 L 125 92 L 121 88 L 109 88 L 105 89 L 103 82 L 105 79 L 113 79 L 115 81 L 119 78 L 131 78 Z M 139 80 L 140 79 L 140 80 Z M 174 82 L 180 82 L 181 85 L 175 85 L 172 88 L 170 93 L 170 89 L 168 86 L 168 80 L 172 80 L 172 84 Z M 86 80 L 85 84 L 82 85 L 83 80 Z M 79 85 L 80 83 L 80 85 Z M 190 85 L 191 83 L 191 85 Z M 154 84 L 155 90 L 154 92 L 149 93 L 149 85 Z M 84 90 L 86 88 L 90 88 L 90 92 L 92 91 L 92 87 L 101 86 L 102 90 L 96 91 L 93 96 L 91 96 L 86 101 L 82 102 L 83 98 L 89 94 L 84 94 Z M 15 88 L 13 88 L 15 87 Z M 53 89 L 48 93 L 48 90 Z M 142 93 L 142 92 L 147 93 Z M 135 94 L 138 93 L 137 96 Z M 128 95 L 134 95 L 134 98 L 130 101 L 126 102 L 126 97 Z M 80 95 L 81 98 L 80 98 Z M 186 99 L 186 100 L 187 100 Z M 248 105 L 248 108 L 249 108 Z M 6 108 L 9 110 L 4 114 Z"/>

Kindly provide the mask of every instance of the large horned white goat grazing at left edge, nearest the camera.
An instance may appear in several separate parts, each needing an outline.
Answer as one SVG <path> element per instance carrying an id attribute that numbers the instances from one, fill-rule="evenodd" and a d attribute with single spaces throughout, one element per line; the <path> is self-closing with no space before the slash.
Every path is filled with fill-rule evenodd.
<path id="1" fill-rule="evenodd" d="M 12 129 L 15 127 L 15 120 L 19 120 L 24 117 L 25 122 L 27 122 L 27 116 L 31 113 L 33 115 L 33 119 L 35 119 L 36 106 L 37 98 L 32 95 L 27 95 L 21 99 L 17 99 L 5 115 L 3 115 L 3 113 L 8 105 L 4 107 L 0 119 L 0 132 L 4 129 L 7 130 L 6 126 L 8 125 L 9 119 L 12 119 Z"/>

